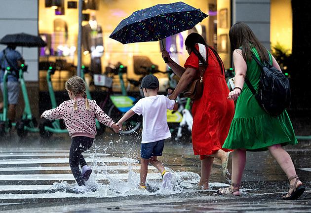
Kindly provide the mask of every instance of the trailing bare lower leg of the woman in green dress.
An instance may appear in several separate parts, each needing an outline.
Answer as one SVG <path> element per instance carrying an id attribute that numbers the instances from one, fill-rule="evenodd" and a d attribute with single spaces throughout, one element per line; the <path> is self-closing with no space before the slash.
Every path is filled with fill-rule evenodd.
<path id="1" fill-rule="evenodd" d="M 280 165 L 282 170 L 285 172 L 287 178 L 290 178 L 294 175 L 296 175 L 296 170 L 294 163 L 290 157 L 290 155 L 285 151 L 280 144 L 268 146 L 268 150 L 272 154 L 272 156 L 275 158 L 277 163 Z M 293 178 L 289 183 L 290 185 L 294 185 L 296 181 L 296 178 Z M 297 182 L 296 187 L 301 186 L 302 182 L 299 180 Z M 290 193 L 294 191 L 293 188 L 290 189 Z"/>

